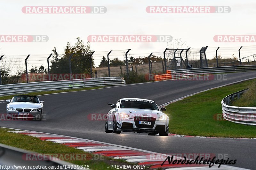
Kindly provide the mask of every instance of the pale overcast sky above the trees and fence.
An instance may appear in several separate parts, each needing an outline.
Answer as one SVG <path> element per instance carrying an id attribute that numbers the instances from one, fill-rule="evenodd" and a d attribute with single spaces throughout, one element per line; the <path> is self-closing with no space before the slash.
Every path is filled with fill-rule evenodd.
<path id="1" fill-rule="evenodd" d="M 189 47 L 237 47 L 247 43 L 214 42 L 218 34 L 255 35 L 255 0 L 1 0 L 1 35 L 47 35 L 47 42 L 0 42 L 4 55 L 50 54 L 53 47 L 63 53 L 76 37 L 85 43 L 89 35 L 172 35 Z M 230 6 L 230 13 L 147 13 L 147 6 Z M 23 6 L 105 6 L 104 14 L 25 14 Z M 163 51 L 166 42 L 92 42 L 94 51 L 131 48 L 131 53 Z"/>

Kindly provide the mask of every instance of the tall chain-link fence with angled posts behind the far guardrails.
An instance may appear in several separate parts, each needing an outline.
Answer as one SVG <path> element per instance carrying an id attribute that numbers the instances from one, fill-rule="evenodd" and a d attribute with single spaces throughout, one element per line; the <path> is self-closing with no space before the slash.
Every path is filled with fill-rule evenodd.
<path id="1" fill-rule="evenodd" d="M 3 55 L 0 84 L 124 76 L 127 83 L 151 80 L 166 70 L 254 65 L 256 46 L 164 48 L 136 53 L 131 49 L 80 54 Z"/>

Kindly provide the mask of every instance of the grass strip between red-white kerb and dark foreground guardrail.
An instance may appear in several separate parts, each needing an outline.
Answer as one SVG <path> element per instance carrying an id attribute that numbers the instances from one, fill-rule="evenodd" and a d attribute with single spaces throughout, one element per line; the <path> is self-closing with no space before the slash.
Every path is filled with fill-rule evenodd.
<path id="1" fill-rule="evenodd" d="M 31 137 L 23 134 L 18 133 L 11 133 L 8 131 L 12 131 L 12 129 L 7 128 L 0 128 L 0 143 L 6 144 L 9 146 L 25 149 L 28 151 L 33 151 L 37 153 L 43 154 L 58 154 L 60 155 L 60 159 L 62 158 L 61 155 L 65 154 L 81 154 L 86 160 L 64 160 L 76 165 L 89 165 L 90 169 L 109 169 L 108 167 L 110 164 L 112 165 L 121 165 L 121 164 L 128 164 L 125 161 L 118 160 L 113 161 L 113 159 L 95 155 L 89 152 L 84 152 L 82 150 L 78 150 L 72 147 L 65 146 L 63 144 L 57 144 L 50 141 L 42 141 L 39 138 Z M 86 156 L 84 156 L 86 154 Z M 80 156 L 81 156 L 80 155 Z M 76 158 L 76 157 L 75 157 Z M 25 160 L 24 160 L 25 161 Z"/>

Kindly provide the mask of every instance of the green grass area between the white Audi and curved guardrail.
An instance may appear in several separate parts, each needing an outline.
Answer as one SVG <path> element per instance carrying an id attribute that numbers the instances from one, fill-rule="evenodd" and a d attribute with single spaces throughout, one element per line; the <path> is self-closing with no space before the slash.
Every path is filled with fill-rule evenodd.
<path id="1" fill-rule="evenodd" d="M 248 88 L 254 80 L 201 92 L 166 106 L 169 132 L 208 137 L 256 137 L 256 127 L 237 124 L 222 117 L 221 100 Z"/>

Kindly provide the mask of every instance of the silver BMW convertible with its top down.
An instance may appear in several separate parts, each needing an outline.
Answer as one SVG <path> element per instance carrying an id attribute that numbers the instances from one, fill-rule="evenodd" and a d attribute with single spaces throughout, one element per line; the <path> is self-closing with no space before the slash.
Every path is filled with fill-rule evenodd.
<path id="1" fill-rule="evenodd" d="M 20 95 L 6 100 L 6 114 L 9 118 L 28 118 L 41 121 L 44 114 L 44 101 L 36 96 Z"/>

